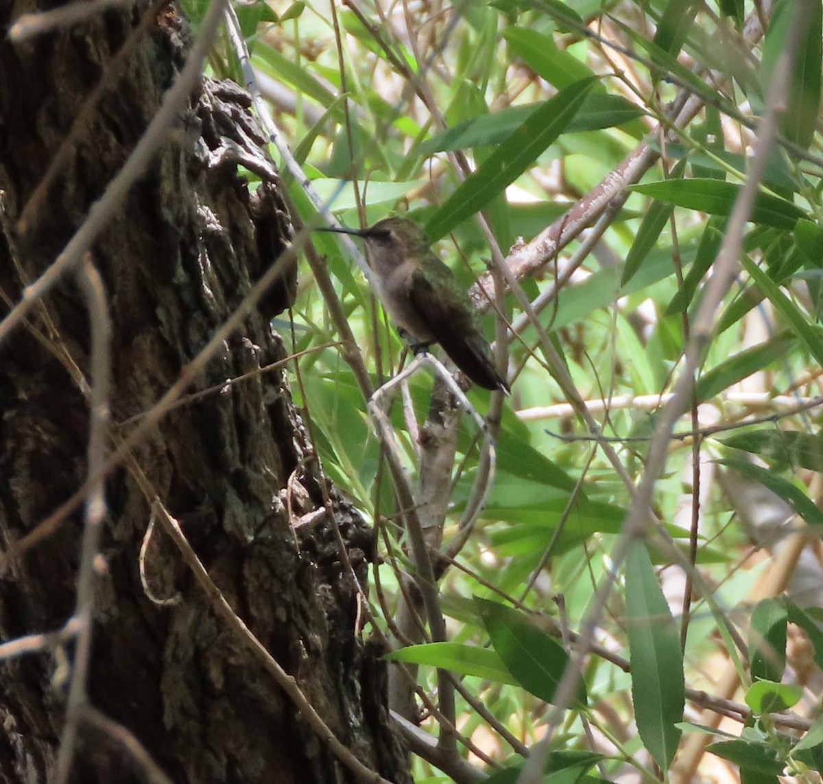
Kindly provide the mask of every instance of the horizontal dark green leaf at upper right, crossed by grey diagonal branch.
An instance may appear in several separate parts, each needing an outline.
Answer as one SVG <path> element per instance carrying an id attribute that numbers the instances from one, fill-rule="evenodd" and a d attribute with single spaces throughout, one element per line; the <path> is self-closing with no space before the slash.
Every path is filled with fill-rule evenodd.
<path id="1" fill-rule="evenodd" d="M 692 178 L 632 185 L 631 189 L 645 196 L 671 202 L 678 207 L 708 212 L 709 215 L 728 216 L 737 201 L 740 186 L 721 180 Z M 804 214 L 784 198 L 759 193 L 755 197 L 749 219 L 779 229 L 792 229 Z"/>

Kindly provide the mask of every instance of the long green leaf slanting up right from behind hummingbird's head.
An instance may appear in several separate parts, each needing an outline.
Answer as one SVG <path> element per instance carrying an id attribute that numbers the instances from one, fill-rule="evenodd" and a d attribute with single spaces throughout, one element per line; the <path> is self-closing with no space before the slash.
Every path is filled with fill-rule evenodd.
<path id="1" fill-rule="evenodd" d="M 565 131 L 593 82 L 575 84 L 546 101 L 500 144 L 483 165 L 458 185 L 426 225 L 432 242 L 488 204 L 514 182 Z"/>

